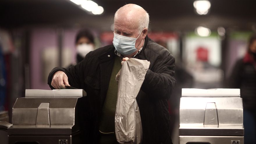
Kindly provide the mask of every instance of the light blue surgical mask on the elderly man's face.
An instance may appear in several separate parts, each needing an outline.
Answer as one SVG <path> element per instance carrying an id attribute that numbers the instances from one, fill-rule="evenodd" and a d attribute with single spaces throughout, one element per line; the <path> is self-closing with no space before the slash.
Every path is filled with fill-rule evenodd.
<path id="1" fill-rule="evenodd" d="M 114 33 L 113 45 L 117 52 L 119 52 L 123 56 L 128 56 L 137 50 L 135 48 L 135 42 L 138 39 L 138 37 L 130 38 L 127 36 L 123 36 L 123 35 Z"/>

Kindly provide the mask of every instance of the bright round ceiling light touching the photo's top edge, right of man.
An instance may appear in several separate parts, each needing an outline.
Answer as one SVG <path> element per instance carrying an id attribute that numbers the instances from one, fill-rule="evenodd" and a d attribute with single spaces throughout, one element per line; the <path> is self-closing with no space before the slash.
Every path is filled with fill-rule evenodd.
<path id="1" fill-rule="evenodd" d="M 211 3 L 208 0 L 194 1 L 193 5 L 199 15 L 206 15 L 211 8 Z"/>

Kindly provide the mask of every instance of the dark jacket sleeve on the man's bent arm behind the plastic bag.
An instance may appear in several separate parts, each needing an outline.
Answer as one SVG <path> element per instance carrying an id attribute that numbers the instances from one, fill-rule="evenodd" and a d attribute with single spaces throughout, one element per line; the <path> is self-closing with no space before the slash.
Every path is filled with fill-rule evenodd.
<path id="1" fill-rule="evenodd" d="M 141 89 L 147 95 L 157 99 L 169 99 L 175 86 L 175 58 L 170 54 L 158 59 L 154 64 L 156 71 L 147 70 Z"/>

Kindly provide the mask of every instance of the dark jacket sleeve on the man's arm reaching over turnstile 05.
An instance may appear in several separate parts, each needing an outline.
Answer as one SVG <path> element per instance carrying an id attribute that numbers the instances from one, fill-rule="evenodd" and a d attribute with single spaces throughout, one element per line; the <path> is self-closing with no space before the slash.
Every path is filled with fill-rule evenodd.
<path id="1" fill-rule="evenodd" d="M 88 53 L 85 57 L 85 59 L 83 59 L 83 61 L 81 61 L 80 63 L 78 63 L 77 65 L 73 65 L 71 67 L 69 67 L 68 69 L 63 68 L 63 67 L 55 67 L 53 70 L 51 70 L 51 72 L 49 73 L 48 76 L 48 85 L 50 86 L 51 89 L 55 89 L 54 87 L 51 86 L 51 80 L 53 78 L 53 75 L 55 72 L 61 70 L 63 72 L 65 72 L 65 74 L 68 77 L 68 83 L 70 84 L 70 86 L 74 87 L 74 88 L 79 88 L 79 89 L 83 89 L 84 88 L 84 71 L 85 71 L 85 67 L 87 65 L 87 58 L 90 57 L 89 56 L 90 53 Z"/>

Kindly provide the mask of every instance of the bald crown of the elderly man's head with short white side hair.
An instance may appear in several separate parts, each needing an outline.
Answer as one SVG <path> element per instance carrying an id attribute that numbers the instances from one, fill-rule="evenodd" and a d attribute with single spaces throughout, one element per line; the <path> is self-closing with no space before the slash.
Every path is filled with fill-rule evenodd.
<path id="1" fill-rule="evenodd" d="M 116 21 L 126 22 L 138 31 L 142 31 L 148 27 L 149 15 L 141 6 L 127 4 L 116 11 L 114 22 Z"/>

